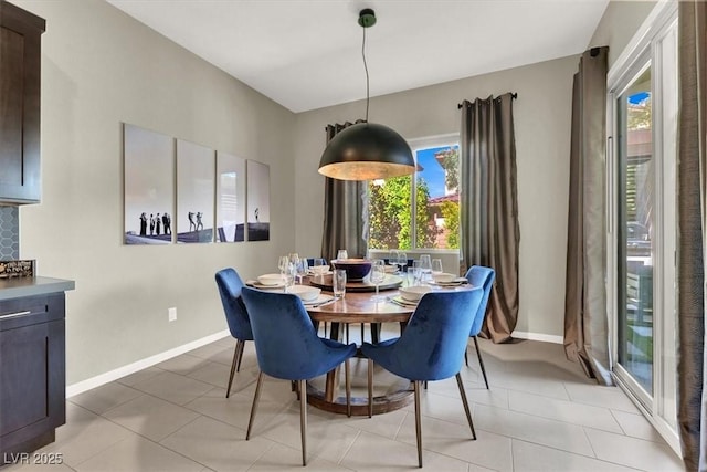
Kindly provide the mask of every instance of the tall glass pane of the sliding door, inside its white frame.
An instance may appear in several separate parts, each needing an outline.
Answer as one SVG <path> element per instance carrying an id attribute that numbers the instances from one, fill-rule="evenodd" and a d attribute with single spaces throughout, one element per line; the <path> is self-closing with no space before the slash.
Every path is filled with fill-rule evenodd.
<path id="1" fill-rule="evenodd" d="M 616 98 L 618 361 L 653 395 L 655 161 L 651 63 Z"/>

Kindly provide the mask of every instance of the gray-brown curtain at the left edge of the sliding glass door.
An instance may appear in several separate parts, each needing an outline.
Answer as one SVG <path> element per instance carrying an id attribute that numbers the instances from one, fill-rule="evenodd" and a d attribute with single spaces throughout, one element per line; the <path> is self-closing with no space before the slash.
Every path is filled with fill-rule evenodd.
<path id="1" fill-rule="evenodd" d="M 574 74 L 564 352 L 587 376 L 613 385 L 604 286 L 608 54 L 606 46 L 585 51 Z"/>

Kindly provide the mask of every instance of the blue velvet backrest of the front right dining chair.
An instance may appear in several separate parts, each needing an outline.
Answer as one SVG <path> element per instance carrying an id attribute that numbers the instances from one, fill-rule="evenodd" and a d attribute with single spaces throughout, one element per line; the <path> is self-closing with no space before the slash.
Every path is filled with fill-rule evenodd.
<path id="1" fill-rule="evenodd" d="M 422 296 L 395 342 L 391 371 L 410 380 L 441 380 L 462 368 L 482 289 L 430 292 Z M 472 310 L 469 310 L 472 308 Z"/>

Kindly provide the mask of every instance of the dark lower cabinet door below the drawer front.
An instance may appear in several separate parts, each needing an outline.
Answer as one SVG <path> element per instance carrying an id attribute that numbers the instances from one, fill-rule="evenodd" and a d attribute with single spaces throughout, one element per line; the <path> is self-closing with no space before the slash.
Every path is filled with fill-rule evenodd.
<path id="1" fill-rule="evenodd" d="M 65 421 L 64 321 L 0 332 L 0 449 Z"/>

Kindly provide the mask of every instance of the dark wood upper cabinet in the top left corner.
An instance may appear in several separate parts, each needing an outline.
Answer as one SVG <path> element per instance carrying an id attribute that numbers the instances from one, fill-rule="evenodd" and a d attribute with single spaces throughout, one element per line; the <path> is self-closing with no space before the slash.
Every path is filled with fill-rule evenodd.
<path id="1" fill-rule="evenodd" d="M 40 65 L 45 21 L 0 0 L 0 202 L 36 203 Z"/>

